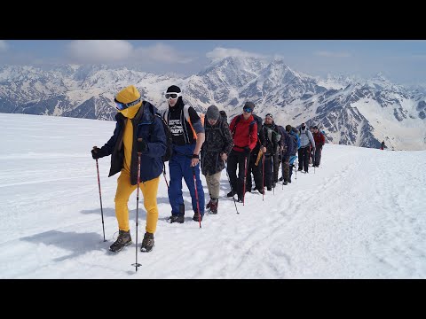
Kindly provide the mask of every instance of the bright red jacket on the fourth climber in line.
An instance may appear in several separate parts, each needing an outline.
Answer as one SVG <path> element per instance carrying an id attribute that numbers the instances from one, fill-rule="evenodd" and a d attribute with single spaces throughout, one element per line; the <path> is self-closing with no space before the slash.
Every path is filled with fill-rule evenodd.
<path id="1" fill-rule="evenodd" d="M 240 118 L 240 121 L 235 126 L 237 118 Z M 254 124 L 250 128 L 250 123 L 253 121 Z M 233 128 L 235 128 L 235 132 L 233 133 L 233 151 L 243 152 L 246 146 L 252 151 L 257 143 L 257 123 L 253 115 L 250 115 L 247 121 L 244 120 L 242 114 L 235 116 L 229 125 L 231 132 L 233 132 Z"/>

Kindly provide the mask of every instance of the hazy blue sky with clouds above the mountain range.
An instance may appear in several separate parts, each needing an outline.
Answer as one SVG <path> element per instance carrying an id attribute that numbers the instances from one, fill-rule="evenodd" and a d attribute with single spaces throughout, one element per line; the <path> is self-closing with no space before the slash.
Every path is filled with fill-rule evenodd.
<path id="1" fill-rule="evenodd" d="M 0 40 L 1 64 L 138 64 L 186 75 L 229 55 L 280 57 L 310 75 L 367 78 L 380 72 L 396 83 L 426 83 L 422 40 Z"/>

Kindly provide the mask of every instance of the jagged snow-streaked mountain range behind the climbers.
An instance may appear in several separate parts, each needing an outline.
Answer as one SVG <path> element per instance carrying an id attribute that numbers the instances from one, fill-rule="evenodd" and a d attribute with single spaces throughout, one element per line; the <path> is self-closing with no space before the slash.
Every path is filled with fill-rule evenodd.
<path id="1" fill-rule="evenodd" d="M 426 90 L 372 79 L 298 73 L 282 59 L 229 57 L 185 78 L 126 67 L 61 65 L 1 66 L 0 113 L 27 113 L 113 120 L 114 95 L 134 84 L 160 110 L 163 92 L 176 84 L 184 101 L 199 112 L 209 105 L 241 113 L 245 101 L 255 113 L 274 115 L 282 126 L 318 125 L 328 143 L 426 150 Z"/>

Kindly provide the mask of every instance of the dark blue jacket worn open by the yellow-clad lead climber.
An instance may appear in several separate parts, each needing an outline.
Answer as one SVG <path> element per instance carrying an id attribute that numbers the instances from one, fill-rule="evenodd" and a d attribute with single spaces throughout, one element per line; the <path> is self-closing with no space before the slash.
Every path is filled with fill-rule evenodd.
<path id="1" fill-rule="evenodd" d="M 133 146 L 130 162 L 130 183 L 138 183 L 138 151 L 136 140 L 142 137 L 147 144 L 146 152 L 142 152 L 140 157 L 140 180 L 146 182 L 162 174 L 163 162 L 162 156 L 166 152 L 166 134 L 162 127 L 162 120 L 154 116 L 157 108 L 149 102 L 144 101 L 139 108 L 138 113 L 132 121 L 133 124 Z M 115 115 L 117 121 L 114 129 L 114 135 L 108 142 L 101 147 L 103 156 L 111 155 L 111 168 L 109 176 L 115 175 L 122 170 L 124 161 L 124 147 L 122 145 L 123 128 L 125 127 L 125 118 L 122 113 Z M 129 121 L 129 120 L 128 120 Z"/>

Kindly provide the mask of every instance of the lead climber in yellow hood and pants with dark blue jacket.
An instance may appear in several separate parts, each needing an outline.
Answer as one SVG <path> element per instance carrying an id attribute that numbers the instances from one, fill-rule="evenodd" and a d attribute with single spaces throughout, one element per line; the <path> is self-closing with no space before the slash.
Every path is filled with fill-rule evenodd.
<path id="1" fill-rule="evenodd" d="M 156 107 L 143 101 L 133 85 L 118 92 L 114 101 L 118 111 L 115 115 L 117 122 L 114 134 L 104 146 L 94 146 L 91 150 L 93 159 L 111 155 L 108 177 L 121 172 L 114 199 L 119 235 L 109 249 L 119 252 L 124 246 L 131 244 L 127 203 L 130 194 L 138 187 L 140 152 L 139 187 L 146 208 L 146 233 L 140 250 L 150 252 L 154 247 L 154 232 L 158 221 L 157 191 L 162 174 L 162 156 L 166 152 L 166 135 L 161 118 L 154 115 Z"/>

